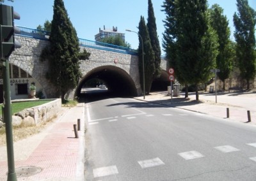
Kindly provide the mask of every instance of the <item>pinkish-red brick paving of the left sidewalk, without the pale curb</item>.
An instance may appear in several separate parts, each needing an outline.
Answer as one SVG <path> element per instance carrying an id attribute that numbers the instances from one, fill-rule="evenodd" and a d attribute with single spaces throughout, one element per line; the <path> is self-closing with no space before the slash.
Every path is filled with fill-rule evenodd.
<path id="1" fill-rule="evenodd" d="M 33 150 L 28 159 L 19 161 L 19 158 L 14 156 L 17 180 L 79 180 L 77 179 L 77 161 L 79 159 L 79 141 L 83 138 L 75 138 L 73 124 L 77 123 L 75 117 L 84 115 L 83 108 L 71 108 L 61 119 L 54 122 L 54 126 L 49 129 L 45 138 Z M 84 121 L 84 119 L 81 120 Z M 82 136 L 80 134 L 81 131 L 79 131 L 79 137 Z M 19 149 L 14 144 L 14 149 L 17 148 Z M 20 151 L 22 152 L 22 150 Z M 0 168 L 0 180 L 7 180 L 7 162 L 0 161 Z M 20 171 L 20 168 L 25 168 L 25 171 Z M 36 173 L 35 170 L 39 173 Z M 30 171 L 32 172 L 31 176 L 20 175 L 24 172 L 29 175 Z"/>

